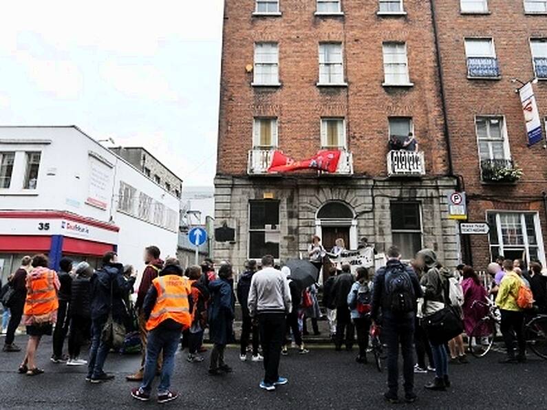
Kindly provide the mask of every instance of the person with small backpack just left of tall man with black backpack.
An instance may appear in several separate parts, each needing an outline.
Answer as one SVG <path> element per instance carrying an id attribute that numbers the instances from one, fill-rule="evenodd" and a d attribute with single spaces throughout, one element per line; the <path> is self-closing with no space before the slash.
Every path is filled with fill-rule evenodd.
<path id="1" fill-rule="evenodd" d="M 373 285 L 369 282 L 367 268 L 360 266 L 357 268 L 356 273 L 357 281 L 352 285 L 352 290 L 347 295 L 347 305 L 352 310 L 352 321 L 357 333 L 359 354 L 357 355 L 356 362 L 367 363 Z"/>

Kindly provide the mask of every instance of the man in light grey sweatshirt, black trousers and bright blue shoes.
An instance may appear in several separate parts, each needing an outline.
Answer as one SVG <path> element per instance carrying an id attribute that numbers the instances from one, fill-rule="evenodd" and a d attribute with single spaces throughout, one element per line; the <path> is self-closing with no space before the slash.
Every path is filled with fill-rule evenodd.
<path id="1" fill-rule="evenodd" d="M 262 257 L 262 269 L 250 281 L 248 307 L 250 316 L 258 320 L 260 343 L 264 355 L 264 379 L 260 388 L 274 391 L 276 386 L 286 385 L 287 378 L 279 376 L 281 345 L 285 336 L 286 314 L 292 303 L 289 283 L 280 270 L 273 268 L 274 257 Z"/>

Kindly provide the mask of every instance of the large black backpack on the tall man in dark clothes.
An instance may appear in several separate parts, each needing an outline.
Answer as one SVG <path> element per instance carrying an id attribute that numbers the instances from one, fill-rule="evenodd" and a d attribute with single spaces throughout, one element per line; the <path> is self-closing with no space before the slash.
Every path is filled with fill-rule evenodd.
<path id="1" fill-rule="evenodd" d="M 416 296 L 410 275 L 403 264 L 385 272 L 385 307 L 395 314 L 414 312 Z"/>

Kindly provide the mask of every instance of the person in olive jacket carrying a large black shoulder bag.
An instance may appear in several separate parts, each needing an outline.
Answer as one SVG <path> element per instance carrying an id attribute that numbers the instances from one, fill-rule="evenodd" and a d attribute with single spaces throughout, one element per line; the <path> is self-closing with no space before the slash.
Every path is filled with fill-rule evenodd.
<path id="1" fill-rule="evenodd" d="M 433 250 L 422 249 L 418 252 L 417 258 L 420 264 L 425 266 L 425 274 L 420 281 L 420 285 L 425 288 L 423 314 L 427 319 L 427 316 L 436 314 L 440 310 L 443 310 L 445 305 L 449 304 L 449 301 L 445 299 L 445 295 L 448 295 L 449 283 L 447 276 L 442 274 L 438 268 L 437 255 Z M 431 338 L 429 338 L 429 344 L 433 352 L 436 376 L 433 382 L 425 385 L 425 388 L 444 391 L 451 385 L 448 376 L 449 359 L 447 346 L 445 343 L 433 343 L 431 342 Z"/>

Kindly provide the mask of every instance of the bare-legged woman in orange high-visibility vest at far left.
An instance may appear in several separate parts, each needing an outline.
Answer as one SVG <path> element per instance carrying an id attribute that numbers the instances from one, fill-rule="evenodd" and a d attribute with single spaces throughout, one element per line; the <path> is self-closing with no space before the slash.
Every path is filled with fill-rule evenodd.
<path id="1" fill-rule="evenodd" d="M 23 323 L 27 327 L 27 352 L 19 373 L 27 376 L 42 374 L 43 370 L 36 367 L 34 356 L 43 335 L 51 336 L 53 325 L 57 319 L 57 291 L 61 287 L 57 274 L 47 268 L 49 261 L 45 255 L 35 255 L 32 258 L 32 270 L 27 275 L 27 299 L 23 310 Z"/>

